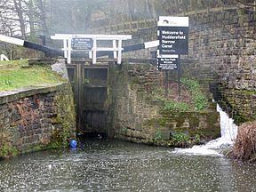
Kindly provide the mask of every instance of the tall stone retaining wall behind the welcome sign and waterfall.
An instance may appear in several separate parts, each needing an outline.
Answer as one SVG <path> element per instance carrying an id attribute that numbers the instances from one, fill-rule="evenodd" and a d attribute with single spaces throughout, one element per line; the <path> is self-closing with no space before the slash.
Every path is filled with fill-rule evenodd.
<path id="1" fill-rule="evenodd" d="M 182 7 L 182 1 L 179 4 Z M 252 7 L 238 8 L 241 4 L 214 8 L 215 10 L 209 7 L 208 12 L 201 12 L 202 8 L 199 5 L 196 7 L 196 3 L 194 5 L 195 7 L 191 4 L 189 9 L 184 8 L 190 12 L 183 12 L 189 17 L 189 53 L 181 58 L 196 60 L 198 69 L 204 68 L 211 76 L 215 75 L 216 78 L 212 81 L 215 87 L 212 90 L 214 99 L 220 102 L 222 108 L 226 108 L 230 116 L 235 114 L 237 124 L 244 120 L 254 120 L 256 13 Z M 144 36 L 141 35 L 143 33 Z M 156 28 L 139 29 L 132 38 L 131 44 L 134 41 L 140 43 L 154 40 Z M 148 50 L 126 54 L 132 58 L 151 57 Z M 198 76 L 199 73 L 195 75 Z"/>

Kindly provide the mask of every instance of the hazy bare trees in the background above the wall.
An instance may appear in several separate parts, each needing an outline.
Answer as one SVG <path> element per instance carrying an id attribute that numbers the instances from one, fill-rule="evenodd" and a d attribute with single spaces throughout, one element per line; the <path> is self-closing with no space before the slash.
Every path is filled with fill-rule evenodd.
<path id="1" fill-rule="evenodd" d="M 0 34 L 35 43 L 42 42 L 40 36 L 46 36 L 47 44 L 55 45 L 50 35 L 56 33 L 88 33 L 90 28 L 115 26 L 133 20 L 157 20 L 159 15 L 221 6 L 235 5 L 239 18 L 243 19 L 244 14 L 248 14 L 241 7 L 243 4 L 254 7 L 252 0 L 0 0 Z M 22 50 L 25 53 L 15 54 L 16 49 L 11 51 L 8 45 L 0 44 L 0 53 L 9 58 L 24 58 L 24 55 L 29 58 L 31 55 L 25 54 L 29 52 L 25 49 Z"/>

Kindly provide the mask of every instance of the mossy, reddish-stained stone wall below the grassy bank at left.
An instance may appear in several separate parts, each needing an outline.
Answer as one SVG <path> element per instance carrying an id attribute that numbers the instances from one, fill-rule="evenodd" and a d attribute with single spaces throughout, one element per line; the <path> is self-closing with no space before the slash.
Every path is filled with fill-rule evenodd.
<path id="1" fill-rule="evenodd" d="M 24 153 L 44 148 L 52 142 L 67 142 L 76 136 L 70 84 L 1 95 L 0 150 L 5 146 L 7 151 L 15 148 Z"/>

